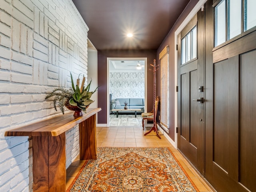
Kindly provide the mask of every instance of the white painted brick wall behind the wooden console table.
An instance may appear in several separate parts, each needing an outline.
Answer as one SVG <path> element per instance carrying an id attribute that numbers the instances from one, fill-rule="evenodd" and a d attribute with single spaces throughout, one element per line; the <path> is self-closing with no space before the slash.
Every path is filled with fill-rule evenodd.
<path id="1" fill-rule="evenodd" d="M 88 27 L 72 0 L 0 0 L 0 191 L 32 192 L 32 139 L 12 128 L 60 114 L 44 98 L 87 76 Z M 79 127 L 66 132 L 66 167 L 79 154 Z"/>

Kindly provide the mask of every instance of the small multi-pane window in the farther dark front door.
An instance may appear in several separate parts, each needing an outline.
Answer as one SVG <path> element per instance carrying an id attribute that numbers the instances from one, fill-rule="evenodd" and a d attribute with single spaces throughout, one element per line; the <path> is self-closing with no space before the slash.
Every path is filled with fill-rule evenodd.
<path id="1" fill-rule="evenodd" d="M 196 58 L 197 32 L 196 26 L 181 40 L 181 64 L 185 64 Z"/>

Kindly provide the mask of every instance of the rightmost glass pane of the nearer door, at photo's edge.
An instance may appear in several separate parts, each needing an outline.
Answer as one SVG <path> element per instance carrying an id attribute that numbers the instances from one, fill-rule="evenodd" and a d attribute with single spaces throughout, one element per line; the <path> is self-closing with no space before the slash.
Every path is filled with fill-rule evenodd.
<path id="1" fill-rule="evenodd" d="M 244 31 L 256 26 L 256 0 L 244 0 Z"/>

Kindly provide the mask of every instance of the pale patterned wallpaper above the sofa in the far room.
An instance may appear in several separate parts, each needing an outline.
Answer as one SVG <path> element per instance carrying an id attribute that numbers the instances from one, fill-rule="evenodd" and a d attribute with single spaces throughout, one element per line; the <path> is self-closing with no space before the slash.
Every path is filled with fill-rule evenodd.
<path id="1" fill-rule="evenodd" d="M 110 72 L 109 93 L 115 98 L 144 98 L 144 72 Z"/>

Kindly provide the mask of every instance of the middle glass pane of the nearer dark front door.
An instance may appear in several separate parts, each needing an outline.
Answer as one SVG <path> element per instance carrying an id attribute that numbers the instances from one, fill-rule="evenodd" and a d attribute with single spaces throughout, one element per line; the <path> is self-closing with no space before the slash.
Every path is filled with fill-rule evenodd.
<path id="1" fill-rule="evenodd" d="M 241 33 L 241 0 L 228 0 L 228 39 Z"/>

